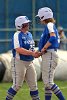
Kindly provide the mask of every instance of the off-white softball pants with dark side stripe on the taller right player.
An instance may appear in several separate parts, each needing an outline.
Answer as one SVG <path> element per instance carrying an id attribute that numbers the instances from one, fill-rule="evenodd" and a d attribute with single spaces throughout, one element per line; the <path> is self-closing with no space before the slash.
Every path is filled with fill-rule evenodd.
<path id="1" fill-rule="evenodd" d="M 42 79 L 46 86 L 54 84 L 54 73 L 58 64 L 58 55 L 56 51 L 47 51 L 42 55 Z"/>

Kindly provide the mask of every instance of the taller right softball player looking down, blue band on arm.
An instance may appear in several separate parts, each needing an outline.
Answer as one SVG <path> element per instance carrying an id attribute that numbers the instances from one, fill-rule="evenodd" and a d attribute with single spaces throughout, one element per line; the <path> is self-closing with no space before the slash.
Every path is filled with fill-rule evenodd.
<path id="1" fill-rule="evenodd" d="M 58 63 L 57 48 L 60 39 L 55 27 L 53 12 L 50 8 L 44 7 L 38 10 L 41 24 L 45 29 L 39 42 L 39 51 L 42 53 L 42 79 L 45 84 L 45 100 L 51 100 L 52 92 L 59 100 L 65 100 L 59 87 L 53 82 L 54 72 Z"/>

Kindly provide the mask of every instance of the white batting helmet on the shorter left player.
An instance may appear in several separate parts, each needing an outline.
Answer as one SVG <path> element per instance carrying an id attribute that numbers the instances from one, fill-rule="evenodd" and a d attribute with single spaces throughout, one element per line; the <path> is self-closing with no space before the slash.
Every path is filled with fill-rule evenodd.
<path id="1" fill-rule="evenodd" d="M 30 20 L 28 19 L 27 16 L 19 16 L 15 19 L 15 27 L 16 29 L 21 29 L 23 24 L 29 23 Z"/>

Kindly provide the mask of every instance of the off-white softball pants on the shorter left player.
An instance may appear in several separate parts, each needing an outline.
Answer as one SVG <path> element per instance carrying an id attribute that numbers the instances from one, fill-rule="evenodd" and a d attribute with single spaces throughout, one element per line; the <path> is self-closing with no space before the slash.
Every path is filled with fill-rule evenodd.
<path id="1" fill-rule="evenodd" d="M 14 90 L 18 91 L 24 80 L 28 83 L 30 91 L 37 90 L 37 76 L 32 61 L 27 62 L 13 58 L 12 77 Z"/>

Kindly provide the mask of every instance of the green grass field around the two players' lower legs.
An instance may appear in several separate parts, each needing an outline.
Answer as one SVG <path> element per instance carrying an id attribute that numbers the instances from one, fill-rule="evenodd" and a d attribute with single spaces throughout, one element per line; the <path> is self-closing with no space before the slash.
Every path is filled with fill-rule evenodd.
<path id="1" fill-rule="evenodd" d="M 55 83 L 60 87 L 67 100 L 67 81 L 55 81 Z M 8 88 L 12 83 L 0 83 L 0 100 L 5 100 L 6 93 Z M 39 95 L 40 100 L 44 100 L 44 84 L 42 81 L 38 81 Z M 19 90 L 14 100 L 31 100 L 29 95 L 28 85 L 24 82 L 23 87 Z M 52 100 L 58 100 L 57 97 L 53 94 Z"/>

